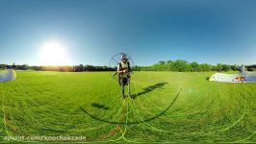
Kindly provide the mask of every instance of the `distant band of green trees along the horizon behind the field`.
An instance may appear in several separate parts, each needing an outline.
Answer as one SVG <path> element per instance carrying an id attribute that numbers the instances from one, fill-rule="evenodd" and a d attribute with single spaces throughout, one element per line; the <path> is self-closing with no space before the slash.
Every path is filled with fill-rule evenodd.
<path id="1" fill-rule="evenodd" d="M 117 66 L 117 65 L 116 65 Z M 241 65 L 222 64 L 212 65 L 208 63 L 188 62 L 186 60 L 159 61 L 150 66 L 135 65 L 134 71 L 177 71 L 177 72 L 208 72 L 208 71 L 237 71 Z M 0 69 L 12 68 L 12 65 L 0 64 Z M 245 65 L 248 71 L 255 71 L 256 64 Z M 62 71 L 62 72 L 83 72 L 83 71 L 115 71 L 115 68 L 108 66 L 94 66 L 89 64 L 79 64 L 74 66 L 30 66 L 28 64 L 16 65 L 17 70 L 37 70 L 37 71 Z"/>

